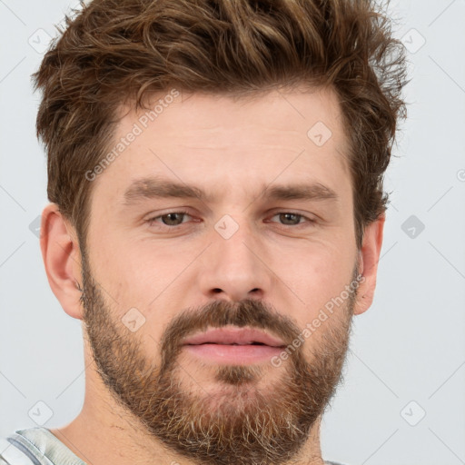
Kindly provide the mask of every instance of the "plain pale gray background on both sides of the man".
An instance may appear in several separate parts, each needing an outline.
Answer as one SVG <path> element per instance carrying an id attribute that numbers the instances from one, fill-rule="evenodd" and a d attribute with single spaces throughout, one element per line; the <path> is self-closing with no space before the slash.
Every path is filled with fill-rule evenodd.
<path id="1" fill-rule="evenodd" d="M 63 426 L 84 400 L 80 322 L 55 300 L 36 236 L 46 170 L 30 83 L 53 25 L 75 3 L 0 0 L 0 435 L 36 426 L 29 412 L 37 409 L 52 415 L 46 427 Z M 348 465 L 459 465 L 465 1 L 401 0 L 390 12 L 409 51 L 409 114 L 386 175 L 391 206 L 375 301 L 355 318 L 345 382 L 322 425 L 322 455 Z"/>

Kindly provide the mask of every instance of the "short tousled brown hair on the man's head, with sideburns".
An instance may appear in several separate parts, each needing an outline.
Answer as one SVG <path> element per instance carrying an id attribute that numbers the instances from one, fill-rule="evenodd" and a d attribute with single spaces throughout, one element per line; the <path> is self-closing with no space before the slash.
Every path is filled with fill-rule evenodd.
<path id="1" fill-rule="evenodd" d="M 43 91 L 37 136 L 48 156 L 48 198 L 85 240 L 91 184 L 118 108 L 170 87 L 260 94 L 330 86 L 350 144 L 354 223 L 384 213 L 382 178 L 406 116 L 406 58 L 371 0 L 94 0 L 54 39 L 33 74 Z"/>

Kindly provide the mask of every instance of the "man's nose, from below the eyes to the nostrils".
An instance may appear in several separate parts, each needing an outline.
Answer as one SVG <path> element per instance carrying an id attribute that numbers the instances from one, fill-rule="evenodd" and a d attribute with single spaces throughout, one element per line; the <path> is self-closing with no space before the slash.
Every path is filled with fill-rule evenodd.
<path id="1" fill-rule="evenodd" d="M 231 302 L 263 299 L 272 286 L 272 271 L 260 238 L 241 225 L 228 239 L 213 231 L 212 244 L 199 270 L 203 295 Z"/>

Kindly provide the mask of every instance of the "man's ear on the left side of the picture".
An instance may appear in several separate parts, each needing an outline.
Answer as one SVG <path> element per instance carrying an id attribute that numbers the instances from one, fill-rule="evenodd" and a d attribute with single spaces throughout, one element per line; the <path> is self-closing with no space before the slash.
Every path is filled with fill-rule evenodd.
<path id="1" fill-rule="evenodd" d="M 40 248 L 48 282 L 64 312 L 82 320 L 81 252 L 74 228 L 64 219 L 56 203 L 49 203 L 43 213 Z"/>

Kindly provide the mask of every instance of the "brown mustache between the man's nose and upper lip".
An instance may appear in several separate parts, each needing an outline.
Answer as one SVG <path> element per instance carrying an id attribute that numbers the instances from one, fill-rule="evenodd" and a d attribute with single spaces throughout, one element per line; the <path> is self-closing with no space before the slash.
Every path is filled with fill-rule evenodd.
<path id="1" fill-rule="evenodd" d="M 299 335 L 299 327 L 292 320 L 277 312 L 272 305 L 262 301 L 245 299 L 240 302 L 213 301 L 200 308 L 190 308 L 178 314 L 164 331 L 161 340 L 161 371 L 170 364 L 182 349 L 183 338 L 209 327 L 222 328 L 234 325 L 268 330 L 279 336 L 286 345 Z"/>

